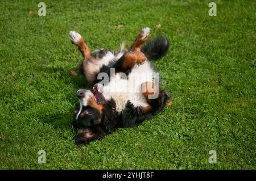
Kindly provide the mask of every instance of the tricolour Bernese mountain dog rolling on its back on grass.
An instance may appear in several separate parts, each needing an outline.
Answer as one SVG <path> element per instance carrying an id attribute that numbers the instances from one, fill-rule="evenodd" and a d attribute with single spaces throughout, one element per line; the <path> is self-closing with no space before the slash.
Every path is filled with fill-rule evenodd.
<path id="1" fill-rule="evenodd" d="M 76 93 L 76 145 L 100 140 L 118 128 L 136 127 L 166 106 L 170 95 L 159 87 L 158 73 L 150 61 L 163 57 L 169 42 L 163 36 L 150 41 L 149 33 L 150 28 L 143 28 L 128 49 L 121 44 L 117 52 L 90 52 L 79 33 L 69 32 L 83 56 L 81 72 L 92 86 L 92 90 L 80 89 Z"/>

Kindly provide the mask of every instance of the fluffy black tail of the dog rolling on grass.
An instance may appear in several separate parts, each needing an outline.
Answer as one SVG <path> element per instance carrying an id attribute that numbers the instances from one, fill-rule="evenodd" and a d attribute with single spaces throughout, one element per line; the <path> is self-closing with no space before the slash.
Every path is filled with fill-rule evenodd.
<path id="1" fill-rule="evenodd" d="M 148 40 L 142 46 L 142 52 L 149 60 L 158 60 L 168 52 L 170 47 L 167 37 L 158 36 L 155 40 Z"/>

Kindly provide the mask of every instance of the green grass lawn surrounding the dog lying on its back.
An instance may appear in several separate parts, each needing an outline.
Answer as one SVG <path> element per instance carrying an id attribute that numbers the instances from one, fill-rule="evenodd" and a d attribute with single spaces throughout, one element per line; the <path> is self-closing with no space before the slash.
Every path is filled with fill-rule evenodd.
<path id="1" fill-rule="evenodd" d="M 217 16 L 212 1 L 44 2 L 46 16 L 28 14 L 38 1 L 1 1 L 0 169 L 256 169 L 255 1 L 216 0 Z M 70 74 L 81 54 L 68 32 L 92 50 L 118 49 L 146 26 L 170 40 L 153 64 L 175 104 L 77 148 L 72 111 L 85 80 Z"/>

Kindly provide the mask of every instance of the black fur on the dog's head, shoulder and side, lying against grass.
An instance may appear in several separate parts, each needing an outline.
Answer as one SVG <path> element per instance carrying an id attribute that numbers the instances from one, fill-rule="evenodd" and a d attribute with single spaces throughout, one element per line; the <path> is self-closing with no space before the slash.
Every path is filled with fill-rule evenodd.
<path id="1" fill-rule="evenodd" d="M 166 106 L 168 99 L 170 99 L 168 93 L 160 89 L 158 98 L 151 99 L 152 110 L 146 113 L 143 112 L 141 108 L 135 108 L 129 101 L 126 103 L 125 109 L 121 113 L 118 113 L 115 110 L 115 102 L 112 99 L 105 103 L 105 111 L 104 116 L 102 116 L 101 123 L 90 124 L 88 127 L 85 127 L 86 130 L 92 132 L 94 136 L 92 138 L 85 138 L 83 134 L 78 133 L 76 137 L 76 144 L 83 145 L 88 144 L 90 141 L 101 140 L 101 138 L 114 132 L 118 128 L 137 127 L 144 120 L 150 120 L 154 115 L 159 113 L 159 111 Z M 83 107 L 81 112 L 83 112 L 84 109 L 86 109 L 86 107 Z M 79 108 L 77 108 L 77 110 L 79 110 Z M 75 117 L 73 126 L 78 130 L 83 129 L 79 127 L 80 124 L 77 123 Z M 95 117 L 97 116 L 92 116 L 92 119 L 95 119 Z M 94 123 L 94 121 L 91 123 Z M 80 130 L 80 132 L 82 131 Z"/>

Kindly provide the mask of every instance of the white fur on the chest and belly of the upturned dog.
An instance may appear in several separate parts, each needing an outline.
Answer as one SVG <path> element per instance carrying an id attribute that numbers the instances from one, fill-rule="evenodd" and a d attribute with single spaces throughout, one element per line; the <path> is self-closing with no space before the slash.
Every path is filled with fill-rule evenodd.
<path id="1" fill-rule="evenodd" d="M 154 82 L 154 70 L 150 62 L 142 65 L 135 65 L 128 77 L 123 78 L 123 73 L 117 73 L 110 78 L 109 85 L 104 86 L 104 97 L 106 100 L 114 99 L 116 110 L 121 112 L 128 100 L 134 107 L 146 107 L 148 103 L 141 93 L 143 82 Z"/>

